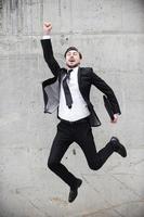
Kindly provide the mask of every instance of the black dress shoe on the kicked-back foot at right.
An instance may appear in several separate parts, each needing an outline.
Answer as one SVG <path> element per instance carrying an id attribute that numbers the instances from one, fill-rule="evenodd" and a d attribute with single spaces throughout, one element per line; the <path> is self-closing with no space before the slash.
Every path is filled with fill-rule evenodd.
<path id="1" fill-rule="evenodd" d="M 114 151 L 120 154 L 122 157 L 127 156 L 126 148 L 119 142 L 118 138 L 113 137 L 110 139 L 110 143 L 113 144 Z"/>

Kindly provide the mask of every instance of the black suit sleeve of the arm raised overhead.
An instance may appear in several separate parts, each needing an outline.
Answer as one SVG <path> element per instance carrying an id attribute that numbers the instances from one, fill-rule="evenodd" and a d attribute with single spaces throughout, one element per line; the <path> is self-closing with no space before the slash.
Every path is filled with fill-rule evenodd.
<path id="1" fill-rule="evenodd" d="M 60 67 L 57 61 L 55 60 L 55 58 L 53 55 L 51 39 L 42 39 L 41 46 L 42 46 L 42 49 L 43 49 L 43 56 L 44 56 L 44 60 L 45 60 L 49 68 L 51 69 L 52 74 L 55 77 L 57 77 L 61 67 Z"/>

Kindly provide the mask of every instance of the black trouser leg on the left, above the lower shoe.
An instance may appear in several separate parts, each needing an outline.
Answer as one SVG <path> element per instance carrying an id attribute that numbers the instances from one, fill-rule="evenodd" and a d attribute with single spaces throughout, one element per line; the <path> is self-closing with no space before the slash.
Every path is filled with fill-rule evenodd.
<path id="1" fill-rule="evenodd" d="M 57 133 L 51 148 L 48 166 L 70 188 L 74 188 L 77 182 L 77 178 L 61 163 L 62 157 L 71 143 L 73 136 L 70 133 L 70 129 L 68 129 L 65 124 L 60 123 L 57 126 Z"/>

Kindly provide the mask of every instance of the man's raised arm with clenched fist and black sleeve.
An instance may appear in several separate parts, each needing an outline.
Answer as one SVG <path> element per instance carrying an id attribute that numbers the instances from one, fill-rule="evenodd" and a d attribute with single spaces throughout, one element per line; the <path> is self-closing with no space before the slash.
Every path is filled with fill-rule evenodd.
<path id="1" fill-rule="evenodd" d="M 52 49 L 51 37 L 50 37 L 51 29 L 52 29 L 51 23 L 44 22 L 43 24 L 44 36 L 43 36 L 43 39 L 41 39 L 41 46 L 43 49 L 43 56 L 44 56 L 45 62 L 48 63 L 48 66 L 50 67 L 52 74 L 55 77 L 57 77 L 61 67 L 53 55 L 53 49 Z"/>

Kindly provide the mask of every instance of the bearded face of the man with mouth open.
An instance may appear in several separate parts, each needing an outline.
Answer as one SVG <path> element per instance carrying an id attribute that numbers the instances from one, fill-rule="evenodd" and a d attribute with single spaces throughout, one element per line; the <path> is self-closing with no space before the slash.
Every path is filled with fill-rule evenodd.
<path id="1" fill-rule="evenodd" d="M 79 53 L 75 50 L 70 50 L 66 53 L 66 65 L 69 68 L 74 68 L 78 66 L 81 62 L 81 59 L 79 56 Z"/>

